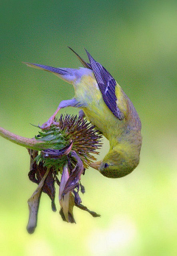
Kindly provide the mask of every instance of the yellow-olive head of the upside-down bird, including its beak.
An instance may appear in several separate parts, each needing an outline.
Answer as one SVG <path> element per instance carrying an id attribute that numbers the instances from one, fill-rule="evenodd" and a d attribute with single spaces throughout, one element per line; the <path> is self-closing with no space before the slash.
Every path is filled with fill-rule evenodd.
<path id="1" fill-rule="evenodd" d="M 102 161 L 91 163 L 90 166 L 108 178 L 121 178 L 131 173 L 138 164 L 139 153 L 132 156 L 128 152 L 114 149 Z"/>

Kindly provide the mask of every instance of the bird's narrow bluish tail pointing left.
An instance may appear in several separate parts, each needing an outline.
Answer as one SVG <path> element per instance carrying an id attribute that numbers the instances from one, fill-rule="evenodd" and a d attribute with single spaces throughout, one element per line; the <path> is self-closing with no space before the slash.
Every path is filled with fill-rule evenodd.
<path id="1" fill-rule="evenodd" d="M 41 64 L 35 64 L 35 63 L 28 63 L 23 62 L 27 66 L 30 66 L 35 69 L 43 69 L 48 72 L 52 72 L 53 74 L 57 75 L 61 79 L 65 80 L 68 83 L 73 83 L 73 81 L 76 79 L 76 74 L 74 72 L 75 69 L 68 69 L 68 68 L 54 68 L 52 66 L 45 66 Z"/>

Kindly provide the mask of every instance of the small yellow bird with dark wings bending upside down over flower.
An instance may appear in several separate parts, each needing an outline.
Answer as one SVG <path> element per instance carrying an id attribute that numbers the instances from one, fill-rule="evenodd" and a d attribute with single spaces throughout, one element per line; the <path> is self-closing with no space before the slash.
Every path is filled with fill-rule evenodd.
<path id="1" fill-rule="evenodd" d="M 74 52 L 71 47 L 69 49 Z M 87 50 L 89 63 L 76 52 L 74 54 L 83 67 L 55 68 L 25 62 L 27 66 L 52 72 L 74 86 L 74 97 L 62 100 L 52 117 L 41 128 L 47 129 L 55 123 L 55 116 L 60 108 L 79 108 L 80 115 L 95 125 L 110 145 L 105 157 L 90 166 L 108 178 L 126 176 L 139 165 L 142 147 L 139 114 L 114 77 Z"/>

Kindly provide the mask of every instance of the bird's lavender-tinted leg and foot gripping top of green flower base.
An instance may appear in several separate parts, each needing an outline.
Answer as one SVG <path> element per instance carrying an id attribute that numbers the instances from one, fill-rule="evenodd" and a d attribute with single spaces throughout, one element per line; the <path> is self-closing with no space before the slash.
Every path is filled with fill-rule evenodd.
<path id="1" fill-rule="evenodd" d="M 49 118 L 47 122 L 44 122 L 43 125 L 39 126 L 41 129 L 48 129 L 51 125 L 56 125 L 57 122 L 55 122 L 55 116 L 58 114 L 58 111 L 60 108 L 66 108 L 66 107 L 80 107 L 81 104 L 75 100 L 74 98 L 72 100 L 62 100 L 60 104 L 58 105 L 57 110 L 55 111 L 54 114 Z"/>

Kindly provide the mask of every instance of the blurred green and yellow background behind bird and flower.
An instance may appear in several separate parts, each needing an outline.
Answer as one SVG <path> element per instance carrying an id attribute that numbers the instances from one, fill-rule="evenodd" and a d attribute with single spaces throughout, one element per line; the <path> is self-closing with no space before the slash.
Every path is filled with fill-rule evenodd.
<path id="1" fill-rule="evenodd" d="M 22 61 L 77 68 L 85 47 L 111 72 L 142 120 L 139 167 L 122 179 L 89 169 L 77 224 L 64 223 L 43 195 L 28 235 L 25 148 L 0 138 L 1 255 L 177 255 L 177 2 L 0 1 L 0 126 L 32 137 L 74 89 Z M 60 113 L 77 114 L 68 108 Z M 108 151 L 105 142 L 100 158 Z M 56 198 L 58 210 L 58 198 Z"/>

